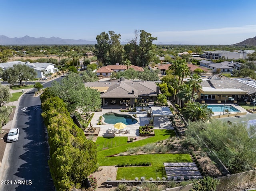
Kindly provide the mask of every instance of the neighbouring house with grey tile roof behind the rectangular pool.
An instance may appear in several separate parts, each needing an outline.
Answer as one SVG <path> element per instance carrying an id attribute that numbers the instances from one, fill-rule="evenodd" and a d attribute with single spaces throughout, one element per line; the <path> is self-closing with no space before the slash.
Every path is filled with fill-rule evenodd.
<path id="1" fill-rule="evenodd" d="M 256 96 L 256 81 L 251 79 L 250 83 L 235 80 L 223 75 L 212 75 L 202 81 L 202 87 L 198 89 L 200 100 L 225 100 L 225 96 L 237 100 L 251 100 Z"/>

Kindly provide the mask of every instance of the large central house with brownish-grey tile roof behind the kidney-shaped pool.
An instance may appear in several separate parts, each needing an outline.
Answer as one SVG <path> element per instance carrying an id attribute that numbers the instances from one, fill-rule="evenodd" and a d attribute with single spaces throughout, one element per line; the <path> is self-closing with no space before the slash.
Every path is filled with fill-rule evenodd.
<path id="1" fill-rule="evenodd" d="M 153 81 L 130 81 L 125 78 L 105 82 L 87 82 L 85 86 L 101 92 L 103 107 L 111 103 L 119 106 L 134 106 L 139 100 L 140 102 L 154 101 L 161 93 Z"/>

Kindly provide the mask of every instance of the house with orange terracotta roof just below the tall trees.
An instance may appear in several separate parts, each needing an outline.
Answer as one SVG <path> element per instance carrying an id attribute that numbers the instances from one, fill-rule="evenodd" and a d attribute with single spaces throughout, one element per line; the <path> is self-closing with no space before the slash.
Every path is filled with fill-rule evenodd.
<path id="1" fill-rule="evenodd" d="M 143 72 L 144 69 L 139 66 L 131 65 L 128 67 L 128 69 L 134 69 L 139 72 Z M 125 71 L 127 70 L 127 66 L 125 65 L 108 65 L 108 66 L 103 66 L 100 69 L 96 71 L 97 76 L 111 76 L 112 72 L 119 72 L 119 71 Z"/>

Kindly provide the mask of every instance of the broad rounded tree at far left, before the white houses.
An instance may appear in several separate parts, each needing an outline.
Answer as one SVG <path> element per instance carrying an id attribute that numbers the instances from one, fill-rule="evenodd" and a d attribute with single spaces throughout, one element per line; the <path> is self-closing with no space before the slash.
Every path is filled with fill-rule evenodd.
<path id="1" fill-rule="evenodd" d="M 10 84 L 15 84 L 16 82 L 19 82 L 20 85 L 22 85 L 24 81 L 26 82 L 29 79 L 33 80 L 35 77 L 36 72 L 34 71 L 34 69 L 22 64 L 13 65 L 13 67 L 4 70 L 2 74 L 2 78 L 4 79 L 4 81 L 7 81 Z"/>

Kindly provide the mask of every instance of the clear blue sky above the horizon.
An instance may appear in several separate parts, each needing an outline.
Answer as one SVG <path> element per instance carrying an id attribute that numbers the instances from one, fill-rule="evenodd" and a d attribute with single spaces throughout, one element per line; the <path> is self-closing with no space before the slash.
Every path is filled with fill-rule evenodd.
<path id="1" fill-rule="evenodd" d="M 145 30 L 155 43 L 234 44 L 256 36 L 256 0 L 0 0 L 0 35 L 121 41 Z"/>

